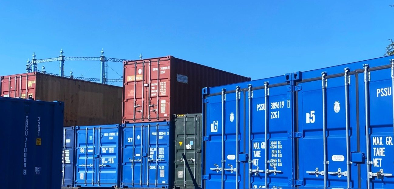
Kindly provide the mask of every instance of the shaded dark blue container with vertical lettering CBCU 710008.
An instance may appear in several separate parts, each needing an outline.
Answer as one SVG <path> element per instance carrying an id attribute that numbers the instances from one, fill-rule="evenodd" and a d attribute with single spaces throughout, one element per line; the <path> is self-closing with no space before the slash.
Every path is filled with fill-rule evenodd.
<path id="1" fill-rule="evenodd" d="M 63 102 L 0 97 L 1 188 L 60 188 Z"/>

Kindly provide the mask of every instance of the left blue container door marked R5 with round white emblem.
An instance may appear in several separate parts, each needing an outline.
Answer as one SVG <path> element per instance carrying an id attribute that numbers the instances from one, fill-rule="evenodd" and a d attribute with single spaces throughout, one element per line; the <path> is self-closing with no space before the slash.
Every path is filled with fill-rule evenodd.
<path id="1" fill-rule="evenodd" d="M 296 163 L 303 187 L 358 186 L 357 163 L 351 163 L 357 152 L 357 82 L 349 70 L 342 73 L 316 73 L 316 78 L 298 83 L 298 130 L 303 136 Z"/>

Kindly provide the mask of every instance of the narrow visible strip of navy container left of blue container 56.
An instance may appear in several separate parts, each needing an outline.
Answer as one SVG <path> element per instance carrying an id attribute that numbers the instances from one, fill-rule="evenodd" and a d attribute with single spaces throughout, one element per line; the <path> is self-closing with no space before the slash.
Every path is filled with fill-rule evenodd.
<path id="1" fill-rule="evenodd" d="M 63 128 L 63 159 L 61 187 L 72 187 L 74 184 L 74 150 L 75 150 L 75 130 L 74 127 Z"/>

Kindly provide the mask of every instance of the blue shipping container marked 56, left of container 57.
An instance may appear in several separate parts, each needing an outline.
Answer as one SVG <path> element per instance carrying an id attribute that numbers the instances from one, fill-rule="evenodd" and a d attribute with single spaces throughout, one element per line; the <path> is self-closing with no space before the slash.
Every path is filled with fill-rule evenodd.
<path id="1" fill-rule="evenodd" d="M 119 186 L 121 125 L 75 127 L 74 187 Z"/>

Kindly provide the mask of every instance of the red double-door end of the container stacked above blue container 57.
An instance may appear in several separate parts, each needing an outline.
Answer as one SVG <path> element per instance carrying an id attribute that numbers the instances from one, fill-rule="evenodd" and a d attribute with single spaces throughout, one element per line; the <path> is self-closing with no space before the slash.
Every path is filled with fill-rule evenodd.
<path id="1" fill-rule="evenodd" d="M 124 111 L 127 122 L 168 119 L 170 61 L 138 61 L 125 65 Z"/>

